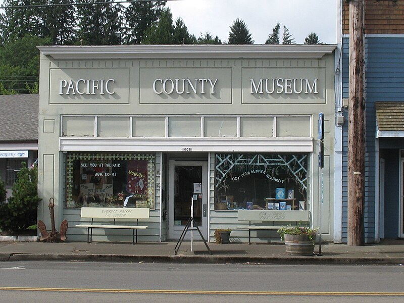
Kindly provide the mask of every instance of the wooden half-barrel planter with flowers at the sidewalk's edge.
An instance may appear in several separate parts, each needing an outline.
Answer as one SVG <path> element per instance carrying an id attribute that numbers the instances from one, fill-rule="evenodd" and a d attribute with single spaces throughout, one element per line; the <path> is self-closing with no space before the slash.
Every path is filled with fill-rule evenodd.
<path id="1" fill-rule="evenodd" d="M 307 226 L 285 226 L 277 232 L 281 240 L 285 241 L 286 252 L 291 255 L 313 256 L 318 230 Z"/>

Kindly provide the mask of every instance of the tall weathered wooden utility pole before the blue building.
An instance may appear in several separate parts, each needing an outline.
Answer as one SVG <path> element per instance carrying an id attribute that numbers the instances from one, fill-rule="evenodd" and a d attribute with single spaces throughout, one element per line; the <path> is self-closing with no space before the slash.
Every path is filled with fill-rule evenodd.
<path id="1" fill-rule="evenodd" d="M 364 0 L 349 1 L 348 245 L 365 244 Z"/>

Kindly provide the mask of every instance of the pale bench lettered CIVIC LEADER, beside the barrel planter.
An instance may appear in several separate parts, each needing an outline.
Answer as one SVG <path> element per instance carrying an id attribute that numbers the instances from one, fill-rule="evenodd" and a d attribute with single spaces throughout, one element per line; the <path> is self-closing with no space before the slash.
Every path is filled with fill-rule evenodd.
<path id="1" fill-rule="evenodd" d="M 238 210 L 237 219 L 248 222 L 237 228 L 248 229 L 248 244 L 251 244 L 251 229 L 278 230 L 285 225 L 309 226 L 310 211 Z M 280 225 L 280 223 L 284 224 Z"/>

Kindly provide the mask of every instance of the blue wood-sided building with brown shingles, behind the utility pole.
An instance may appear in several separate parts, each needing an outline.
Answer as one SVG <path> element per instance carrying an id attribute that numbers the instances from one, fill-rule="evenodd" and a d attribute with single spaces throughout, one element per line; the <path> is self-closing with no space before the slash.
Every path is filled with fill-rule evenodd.
<path id="1" fill-rule="evenodd" d="M 404 1 L 365 1 L 365 241 L 404 237 Z M 347 241 L 349 9 L 342 7 L 341 234 Z M 338 71 L 338 69 L 337 69 Z"/>

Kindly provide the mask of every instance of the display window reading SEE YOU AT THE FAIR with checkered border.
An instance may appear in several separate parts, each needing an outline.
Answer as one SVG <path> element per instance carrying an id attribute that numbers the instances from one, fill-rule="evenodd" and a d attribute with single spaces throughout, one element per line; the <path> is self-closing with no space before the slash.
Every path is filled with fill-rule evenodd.
<path id="1" fill-rule="evenodd" d="M 155 208 L 155 155 L 69 153 L 66 207 Z"/>

